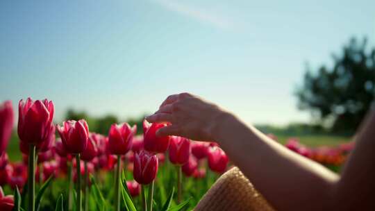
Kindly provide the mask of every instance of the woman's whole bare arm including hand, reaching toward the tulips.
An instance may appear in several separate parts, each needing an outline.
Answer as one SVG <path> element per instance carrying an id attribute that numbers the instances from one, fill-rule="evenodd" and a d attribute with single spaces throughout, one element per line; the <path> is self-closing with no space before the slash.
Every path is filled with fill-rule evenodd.
<path id="1" fill-rule="evenodd" d="M 374 206 L 374 114 L 360 131 L 342 178 L 191 94 L 169 96 L 147 119 L 172 123 L 160 129 L 160 135 L 218 142 L 276 210 L 367 210 Z"/>

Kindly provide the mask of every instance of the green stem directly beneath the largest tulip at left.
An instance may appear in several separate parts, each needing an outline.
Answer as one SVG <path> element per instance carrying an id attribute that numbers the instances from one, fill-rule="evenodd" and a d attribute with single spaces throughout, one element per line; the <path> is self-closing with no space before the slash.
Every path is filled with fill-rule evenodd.
<path id="1" fill-rule="evenodd" d="M 35 144 L 28 146 L 28 210 L 35 211 Z"/>

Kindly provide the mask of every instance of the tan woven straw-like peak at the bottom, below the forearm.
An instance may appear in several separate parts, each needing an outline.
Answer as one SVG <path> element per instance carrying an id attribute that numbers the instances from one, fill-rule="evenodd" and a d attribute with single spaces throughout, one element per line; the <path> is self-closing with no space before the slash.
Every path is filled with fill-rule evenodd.
<path id="1" fill-rule="evenodd" d="M 195 211 L 274 210 L 238 167 L 226 171 L 199 201 Z"/>

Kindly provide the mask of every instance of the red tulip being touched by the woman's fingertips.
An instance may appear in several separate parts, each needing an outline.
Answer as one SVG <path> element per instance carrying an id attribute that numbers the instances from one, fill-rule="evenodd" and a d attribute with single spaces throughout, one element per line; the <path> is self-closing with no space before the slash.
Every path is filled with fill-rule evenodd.
<path id="1" fill-rule="evenodd" d="M 152 153 L 164 153 L 169 146 L 169 136 L 158 137 L 156 131 L 163 128 L 166 124 L 149 124 L 143 121 L 143 144 L 144 149 Z"/>

